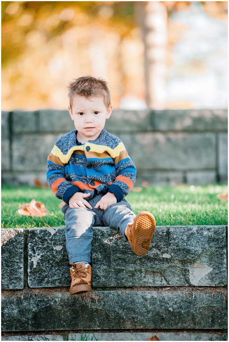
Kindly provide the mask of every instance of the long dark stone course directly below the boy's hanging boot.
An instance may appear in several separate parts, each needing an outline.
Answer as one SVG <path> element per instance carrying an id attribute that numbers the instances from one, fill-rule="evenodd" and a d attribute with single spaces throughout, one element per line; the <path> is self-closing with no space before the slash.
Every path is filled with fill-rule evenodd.
<path id="1" fill-rule="evenodd" d="M 209 288 L 98 290 L 89 294 L 97 296 L 90 304 L 83 300 L 88 294 L 36 293 L 2 296 L 2 331 L 227 328 L 225 295 Z"/>

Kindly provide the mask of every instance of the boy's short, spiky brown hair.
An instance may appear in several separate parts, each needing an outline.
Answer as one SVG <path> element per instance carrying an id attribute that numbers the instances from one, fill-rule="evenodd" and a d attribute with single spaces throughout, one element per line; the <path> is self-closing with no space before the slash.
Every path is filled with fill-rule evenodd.
<path id="1" fill-rule="evenodd" d="M 68 97 L 70 108 L 72 109 L 72 100 L 75 94 L 91 97 L 103 96 L 104 104 L 108 109 L 111 105 L 110 90 L 108 89 L 107 82 L 101 77 L 93 77 L 90 75 L 82 76 L 73 79 L 68 84 Z"/>

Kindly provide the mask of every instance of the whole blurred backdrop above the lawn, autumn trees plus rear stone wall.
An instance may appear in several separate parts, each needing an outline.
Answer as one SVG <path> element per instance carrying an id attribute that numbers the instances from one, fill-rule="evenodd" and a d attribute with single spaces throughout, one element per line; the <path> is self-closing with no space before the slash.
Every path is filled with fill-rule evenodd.
<path id="1" fill-rule="evenodd" d="M 86 74 L 108 81 L 136 185 L 227 182 L 226 1 L 3 1 L 2 183 L 47 186 Z"/>

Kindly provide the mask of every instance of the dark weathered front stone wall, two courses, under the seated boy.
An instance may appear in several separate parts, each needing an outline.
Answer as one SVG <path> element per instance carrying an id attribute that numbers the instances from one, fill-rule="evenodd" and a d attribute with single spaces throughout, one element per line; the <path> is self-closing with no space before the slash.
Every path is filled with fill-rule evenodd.
<path id="1" fill-rule="evenodd" d="M 227 329 L 225 226 L 157 226 L 144 256 L 94 227 L 90 302 L 69 295 L 63 227 L 1 231 L 4 332 Z"/>

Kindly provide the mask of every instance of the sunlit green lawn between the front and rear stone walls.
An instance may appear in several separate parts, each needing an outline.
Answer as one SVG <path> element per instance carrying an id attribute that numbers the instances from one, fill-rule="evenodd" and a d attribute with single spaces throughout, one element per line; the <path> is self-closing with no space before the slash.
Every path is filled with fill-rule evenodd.
<path id="1" fill-rule="evenodd" d="M 192 189 L 192 190 L 191 190 Z M 227 185 L 176 186 L 141 188 L 131 191 L 126 199 L 134 213 L 147 210 L 159 225 L 227 225 L 227 201 L 217 194 L 226 193 Z M 43 202 L 47 216 L 37 218 L 17 213 L 21 204 L 35 199 Z M 64 226 L 59 203 L 49 188 L 2 187 L 2 228 L 33 228 Z"/>

